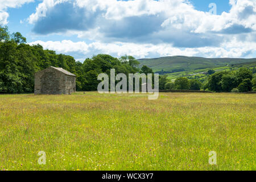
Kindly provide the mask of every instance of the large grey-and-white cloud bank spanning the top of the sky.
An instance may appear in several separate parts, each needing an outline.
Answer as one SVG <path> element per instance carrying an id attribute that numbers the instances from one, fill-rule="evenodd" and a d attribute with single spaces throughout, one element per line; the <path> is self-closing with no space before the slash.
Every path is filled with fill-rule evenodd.
<path id="1" fill-rule="evenodd" d="M 142 20 L 155 16 L 158 17 L 158 23 L 162 26 L 157 24 L 157 27 L 154 28 L 175 27 L 200 33 L 220 31 L 233 24 L 240 24 L 241 26 L 255 30 L 256 1 L 230 1 L 230 5 L 232 5 L 232 8 L 229 13 L 224 12 L 221 15 L 211 15 L 195 10 L 190 3 L 184 0 L 44 0 L 43 3 L 39 4 L 36 13 L 32 14 L 28 20 L 30 23 L 35 23 L 35 26 L 39 26 L 39 23 L 50 22 L 52 18 L 61 22 L 64 21 L 65 23 L 67 22 L 65 18 L 72 16 L 68 17 L 68 21 L 72 23 L 71 20 L 73 20 L 77 23 L 77 26 L 74 28 L 86 29 L 99 25 L 107 25 L 109 20 L 110 22 L 116 21 L 119 26 L 122 26 L 119 23 L 122 23 L 122 20 L 130 20 L 131 22 L 128 22 L 129 25 L 139 26 Z M 47 16 L 45 18 L 40 17 L 42 7 L 47 10 Z M 54 25 L 52 26 L 55 27 Z M 65 26 L 65 29 L 62 31 L 70 29 L 69 24 L 65 24 Z M 143 26 L 145 25 L 141 24 L 139 28 Z M 148 28 L 150 29 L 151 27 Z M 56 30 L 52 30 L 52 32 L 54 31 L 60 30 L 56 26 Z"/>

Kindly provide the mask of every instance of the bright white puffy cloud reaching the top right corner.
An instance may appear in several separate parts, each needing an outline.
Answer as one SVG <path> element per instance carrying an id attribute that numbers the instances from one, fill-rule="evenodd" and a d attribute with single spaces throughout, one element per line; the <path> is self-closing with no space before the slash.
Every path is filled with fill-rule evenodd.
<path id="1" fill-rule="evenodd" d="M 230 4 L 232 8 L 229 13 L 223 12 L 221 15 L 197 11 L 193 7 L 171 11 L 162 26 L 188 29 L 195 33 L 221 31 L 237 24 L 256 30 L 256 1 L 237 0 L 230 1 Z"/>

